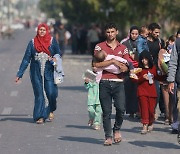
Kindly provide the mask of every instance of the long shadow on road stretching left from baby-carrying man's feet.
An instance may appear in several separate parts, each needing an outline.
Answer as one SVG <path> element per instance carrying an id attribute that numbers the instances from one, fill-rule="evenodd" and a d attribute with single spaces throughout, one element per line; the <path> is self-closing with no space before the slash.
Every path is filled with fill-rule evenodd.
<path id="1" fill-rule="evenodd" d="M 95 139 L 90 137 L 73 137 L 73 136 L 61 136 L 58 138 L 62 141 L 74 141 L 74 142 L 82 142 L 82 143 L 92 143 L 92 144 L 102 144 L 103 140 L 101 139 Z"/>

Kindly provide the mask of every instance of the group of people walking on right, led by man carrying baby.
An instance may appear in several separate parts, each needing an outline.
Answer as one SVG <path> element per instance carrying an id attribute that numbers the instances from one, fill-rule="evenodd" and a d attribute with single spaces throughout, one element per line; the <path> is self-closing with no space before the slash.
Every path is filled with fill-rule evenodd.
<path id="1" fill-rule="evenodd" d="M 88 112 L 89 115 L 94 115 L 89 116 L 88 124 L 95 130 L 100 129 L 100 121 L 97 129 L 94 120 L 96 116 L 100 116 L 101 110 L 93 104 L 100 102 L 104 145 L 112 145 L 113 140 L 114 143 L 121 142 L 120 129 L 125 113 L 130 118 L 140 119 L 141 134 L 153 131 L 154 121 L 158 116 L 163 117 L 164 124 L 171 125 L 172 133 L 178 134 L 180 143 L 180 30 L 167 41 L 160 38 L 161 27 L 157 23 L 142 27 L 132 26 L 129 36 L 121 42 L 117 40 L 119 31 L 115 24 L 107 24 L 104 32 L 106 40 L 97 43 L 93 52 L 91 51 L 92 71 L 96 73 L 96 78 L 85 77 L 85 86 L 91 92 L 91 99 L 88 94 L 88 105 L 90 103 L 92 109 L 88 108 Z M 116 111 L 113 128 L 112 105 Z"/>

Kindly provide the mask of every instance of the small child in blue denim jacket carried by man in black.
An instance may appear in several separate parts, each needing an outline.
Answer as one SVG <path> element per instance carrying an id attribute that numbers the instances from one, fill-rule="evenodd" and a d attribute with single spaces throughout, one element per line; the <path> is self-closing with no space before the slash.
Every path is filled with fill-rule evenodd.
<path id="1" fill-rule="evenodd" d="M 149 34 L 149 30 L 146 26 L 142 26 L 139 30 L 139 36 L 137 39 L 137 51 L 138 51 L 138 55 L 143 51 L 149 51 L 149 47 L 147 44 L 147 37 Z"/>

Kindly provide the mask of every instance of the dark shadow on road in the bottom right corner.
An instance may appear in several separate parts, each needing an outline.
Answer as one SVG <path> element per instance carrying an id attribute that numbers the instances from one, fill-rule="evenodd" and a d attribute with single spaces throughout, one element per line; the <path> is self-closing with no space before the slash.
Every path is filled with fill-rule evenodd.
<path id="1" fill-rule="evenodd" d="M 139 147 L 156 147 L 162 149 L 180 149 L 180 146 L 169 143 L 169 142 L 157 142 L 157 141 L 133 141 L 129 142 L 132 145 L 139 146 Z"/>

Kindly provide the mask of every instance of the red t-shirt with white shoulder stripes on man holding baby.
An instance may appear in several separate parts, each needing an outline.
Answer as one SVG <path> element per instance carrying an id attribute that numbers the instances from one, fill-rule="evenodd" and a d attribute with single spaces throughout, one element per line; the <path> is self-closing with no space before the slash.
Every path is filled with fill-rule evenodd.
<path id="1" fill-rule="evenodd" d="M 94 53 L 96 54 L 96 52 L 100 50 L 104 50 L 107 54 L 110 55 L 122 57 L 127 61 L 130 60 L 128 49 L 126 48 L 125 45 L 120 44 L 118 41 L 117 41 L 117 47 L 114 50 L 107 44 L 106 41 L 101 42 L 95 46 Z M 101 79 L 123 79 L 123 78 L 124 78 L 123 73 L 113 74 L 104 70 Z"/>

